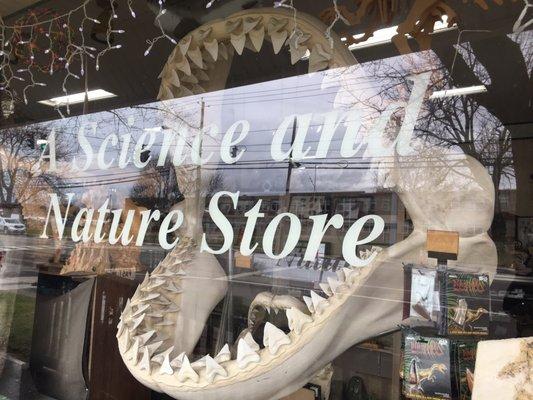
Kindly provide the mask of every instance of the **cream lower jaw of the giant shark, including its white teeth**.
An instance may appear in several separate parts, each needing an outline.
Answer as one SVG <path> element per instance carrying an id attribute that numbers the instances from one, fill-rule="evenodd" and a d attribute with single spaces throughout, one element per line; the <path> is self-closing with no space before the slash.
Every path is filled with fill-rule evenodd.
<path id="1" fill-rule="evenodd" d="M 217 355 L 191 362 L 187 354 L 192 349 L 180 349 L 179 354 L 173 347 L 163 349 L 157 334 L 148 337 L 149 328 L 142 323 L 132 330 L 127 318 L 119 324 L 120 352 L 140 382 L 176 399 L 278 399 L 305 385 L 349 347 L 398 327 L 403 296 L 401 261 L 412 260 L 423 245 L 423 235 L 412 235 L 399 246 L 382 251 L 367 267 L 343 268 L 337 279 L 330 278 L 327 287 L 323 286 L 329 295 L 311 292 L 310 297 L 304 296 L 306 312 L 298 306 L 300 302 L 281 301 L 295 305 L 285 309 L 290 332 L 267 322 L 262 345 L 251 335 L 238 339 L 236 359 L 232 359 L 229 346 L 224 346 Z M 168 280 L 175 278 L 167 275 Z M 156 273 L 147 279 L 145 287 L 153 280 L 159 284 L 161 278 Z M 141 297 L 137 304 L 142 303 Z M 128 306 L 133 314 L 139 310 L 137 305 Z M 148 340 L 135 343 L 133 338 L 143 335 Z"/>

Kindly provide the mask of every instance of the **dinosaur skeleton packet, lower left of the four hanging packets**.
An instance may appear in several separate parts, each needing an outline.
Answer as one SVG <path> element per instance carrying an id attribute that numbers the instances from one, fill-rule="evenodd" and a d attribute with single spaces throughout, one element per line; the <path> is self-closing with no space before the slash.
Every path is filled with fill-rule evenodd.
<path id="1" fill-rule="evenodd" d="M 402 367 L 403 393 L 406 398 L 452 398 L 448 339 L 405 335 Z"/>

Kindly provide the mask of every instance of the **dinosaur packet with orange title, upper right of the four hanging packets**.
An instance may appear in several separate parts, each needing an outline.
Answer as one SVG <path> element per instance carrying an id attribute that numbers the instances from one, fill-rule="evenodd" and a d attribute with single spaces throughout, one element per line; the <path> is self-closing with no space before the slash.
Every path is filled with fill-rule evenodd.
<path id="1" fill-rule="evenodd" d="M 489 334 L 489 277 L 449 272 L 446 280 L 446 326 L 449 335 Z"/>

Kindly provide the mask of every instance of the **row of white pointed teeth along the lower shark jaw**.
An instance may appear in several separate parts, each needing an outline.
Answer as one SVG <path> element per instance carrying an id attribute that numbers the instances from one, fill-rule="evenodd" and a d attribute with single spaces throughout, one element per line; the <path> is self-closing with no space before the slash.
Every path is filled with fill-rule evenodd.
<path id="1" fill-rule="evenodd" d="M 336 271 L 336 275 L 337 279 L 329 278 L 327 280 L 327 286 L 322 285 L 322 289 L 328 295 L 328 298 L 324 298 L 314 291 L 310 292 L 310 297 L 304 296 L 304 301 L 310 311 L 310 315 L 299 306 L 285 309 L 288 326 L 291 331 L 290 334 L 286 334 L 275 325 L 266 322 L 263 332 L 264 349 L 261 349 L 261 346 L 256 343 L 251 333 L 247 332 L 237 343 L 237 354 L 234 361 L 231 360 L 231 352 L 227 344 L 214 357 L 206 355 L 194 362 L 190 362 L 186 354 L 181 353 L 172 358 L 174 346 L 169 346 L 162 351 L 160 350 L 164 347 L 163 344 L 168 337 L 165 338 L 157 332 L 157 323 L 151 324 L 154 329 L 149 329 L 134 335 L 136 330 L 138 330 L 137 327 L 141 325 L 144 318 L 148 315 L 148 309 L 144 308 L 144 302 L 139 303 L 137 310 L 133 310 L 131 304 L 128 304 L 128 310 L 125 310 L 122 315 L 117 334 L 121 351 L 124 350 L 122 353 L 126 362 L 136 366 L 139 370 L 147 371 L 150 375 L 156 376 L 170 375 L 179 384 L 199 384 L 202 382 L 211 384 L 219 380 L 228 379 L 230 376 L 234 376 L 236 367 L 237 370 L 245 370 L 260 363 L 262 357 L 276 358 L 280 352 L 290 351 L 292 348 L 291 345 L 302 338 L 301 335 L 306 329 L 327 318 L 325 315 L 329 314 L 329 312 L 326 312 L 328 307 L 341 304 L 340 301 L 336 301 L 335 299 L 342 300 L 344 295 L 348 293 L 351 287 L 359 282 L 359 278 L 361 277 L 359 269 L 351 268 L 342 268 Z M 145 279 L 143 287 L 153 284 L 153 279 L 154 274 L 152 278 Z M 161 289 L 163 286 L 158 285 L 156 289 Z M 142 293 L 142 291 L 138 292 Z M 150 298 L 153 302 L 157 301 L 160 296 L 150 296 L 150 293 L 146 293 L 142 294 L 141 298 Z M 175 307 L 174 304 L 170 306 Z M 138 317 L 133 317 L 133 314 L 139 313 L 141 307 L 143 307 L 142 311 L 140 311 L 141 314 Z M 123 322 L 126 319 L 130 319 L 127 324 Z M 167 321 L 166 313 L 163 322 L 159 323 L 159 325 L 164 325 L 166 323 L 165 321 Z M 268 354 L 268 356 L 265 354 Z M 228 362 L 229 364 L 225 365 Z"/>

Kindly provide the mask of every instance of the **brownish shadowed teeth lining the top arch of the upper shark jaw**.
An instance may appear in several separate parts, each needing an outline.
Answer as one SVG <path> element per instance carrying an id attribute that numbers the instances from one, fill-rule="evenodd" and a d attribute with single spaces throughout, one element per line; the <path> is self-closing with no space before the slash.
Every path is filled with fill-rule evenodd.
<path id="1" fill-rule="evenodd" d="M 314 43 L 312 35 L 291 26 L 289 18 L 239 17 L 225 22 L 224 30 L 225 36 L 216 38 L 212 26 L 199 28 L 178 42 L 159 75 L 158 99 L 204 93 L 202 82 L 210 80 L 206 71 L 213 69 L 217 60 L 227 60 L 233 49 L 239 55 L 245 47 L 259 52 L 265 38 L 272 42 L 274 54 L 288 46 L 292 64 L 309 55 L 309 72 L 328 68 L 333 58 L 325 42 Z"/>

